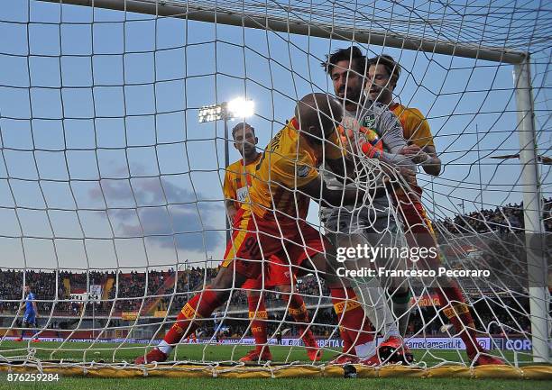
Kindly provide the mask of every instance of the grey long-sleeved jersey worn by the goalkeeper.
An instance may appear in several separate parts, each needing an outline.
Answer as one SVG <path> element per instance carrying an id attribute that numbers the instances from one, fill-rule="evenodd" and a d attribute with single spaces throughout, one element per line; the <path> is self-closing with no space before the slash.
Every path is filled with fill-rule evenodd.
<path id="1" fill-rule="evenodd" d="M 404 140 L 402 127 L 397 116 L 389 110 L 387 105 L 364 101 L 363 107 L 358 113 L 345 112 L 344 122 L 357 119 L 359 124 L 375 130 L 383 143 L 384 156 L 395 165 L 400 165 L 415 170 L 416 165 L 410 159 L 399 155 L 399 151 L 407 146 Z M 328 188 L 342 189 L 343 183 L 326 166 L 321 169 L 321 175 Z M 347 187 L 355 188 L 354 184 Z M 387 209 L 389 200 L 386 195 L 373 199 L 373 206 L 380 210 Z M 336 207 L 322 205 L 320 207 L 320 219 L 325 222 L 332 213 L 336 213 Z M 342 210 L 343 211 L 343 210 Z"/>

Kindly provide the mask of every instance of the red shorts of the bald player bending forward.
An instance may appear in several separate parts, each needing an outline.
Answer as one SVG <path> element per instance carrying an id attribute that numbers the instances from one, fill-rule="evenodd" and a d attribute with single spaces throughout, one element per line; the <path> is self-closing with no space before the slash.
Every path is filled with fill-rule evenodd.
<path id="1" fill-rule="evenodd" d="M 292 275 L 301 274 L 303 261 L 324 253 L 327 245 L 327 240 L 307 222 L 281 224 L 279 229 L 277 222 L 240 209 L 221 266 L 234 262 L 235 272 L 250 279 L 264 276 L 267 286 L 290 284 Z"/>

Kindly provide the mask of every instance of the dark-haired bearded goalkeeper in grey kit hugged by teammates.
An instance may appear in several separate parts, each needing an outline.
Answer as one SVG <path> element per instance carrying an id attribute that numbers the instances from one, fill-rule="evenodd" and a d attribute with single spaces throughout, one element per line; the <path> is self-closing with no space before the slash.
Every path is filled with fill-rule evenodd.
<path id="1" fill-rule="evenodd" d="M 402 136 L 402 128 L 396 116 L 384 105 L 363 100 L 364 70 L 366 58 L 360 49 L 336 50 L 322 66 L 331 77 L 336 95 L 345 106 L 345 115 L 342 129 L 345 142 L 353 147 L 354 157 L 357 153 L 365 153 L 370 158 L 378 159 L 379 163 L 371 164 L 373 168 L 382 168 L 387 179 L 399 177 L 409 183 L 414 183 L 415 166 L 399 153 L 407 146 Z M 360 118 L 357 120 L 356 118 Z M 360 132 L 362 130 L 362 132 Z M 358 146 L 358 149 L 356 148 Z M 365 158 L 364 158 L 365 159 Z M 357 166 L 359 159 L 356 159 Z M 380 172 L 378 175 L 377 172 Z M 396 173 L 398 172 L 398 174 Z M 365 183 L 374 182 L 374 178 L 382 177 L 379 169 L 361 168 L 357 174 L 358 179 Z M 335 189 L 343 188 L 342 183 L 332 175 L 326 175 L 327 186 Z M 397 223 L 394 211 L 390 207 L 387 190 L 380 185 L 384 191 L 381 196 L 374 197 L 370 204 L 366 204 L 360 210 L 354 207 L 347 209 L 335 207 L 322 207 L 321 219 L 325 222 L 327 231 L 332 232 L 333 241 L 337 248 L 354 248 L 357 245 L 370 245 L 373 247 L 391 247 L 397 237 Z M 345 265 L 349 268 L 373 267 L 373 264 L 365 263 L 362 258 L 354 258 Z M 375 264 L 379 267 L 403 267 L 392 259 L 375 258 Z M 361 363 L 366 365 L 380 364 L 381 358 L 394 360 L 412 361 L 412 355 L 408 348 L 403 345 L 400 332 L 393 314 L 385 302 L 385 292 L 379 285 L 379 281 L 357 280 L 355 288 L 356 295 L 360 295 L 364 304 L 364 311 L 367 317 L 374 324 L 376 332 L 382 332 L 384 340 L 380 346 L 379 353 L 376 353 L 375 341 L 370 346 L 361 349 L 355 345 L 355 340 L 350 340 L 346 334 L 342 334 L 344 342 L 344 354 L 336 358 L 336 363 L 355 362 L 361 358 Z M 396 283 L 396 280 L 390 282 Z M 401 283 L 400 286 L 393 286 L 392 296 L 400 296 L 402 304 L 404 297 L 409 296 L 409 286 Z M 356 298 L 358 299 L 358 298 Z M 367 324 L 364 324 L 363 331 L 370 331 Z M 395 355 L 395 352 L 397 354 Z M 394 355 L 391 358 L 391 355 Z"/>

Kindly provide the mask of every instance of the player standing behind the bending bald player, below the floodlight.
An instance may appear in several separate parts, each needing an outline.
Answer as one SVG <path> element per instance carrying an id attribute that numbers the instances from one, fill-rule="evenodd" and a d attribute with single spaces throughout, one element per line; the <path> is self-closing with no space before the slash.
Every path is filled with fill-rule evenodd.
<path id="1" fill-rule="evenodd" d="M 256 166 L 262 157 L 255 148 L 258 142 L 255 130 L 246 122 L 238 123 L 232 130 L 234 147 L 242 155 L 242 159 L 235 161 L 226 168 L 224 194 L 226 213 L 234 220 L 235 213 L 241 208 L 248 196 L 248 188 L 251 186 L 252 177 L 255 175 Z M 275 256 L 269 260 L 274 264 L 284 264 L 284 260 Z M 251 320 L 251 331 L 255 339 L 255 349 L 249 351 L 240 361 L 271 360 L 271 351 L 267 342 L 267 320 L 268 313 L 262 296 L 262 290 L 266 287 L 274 287 L 281 293 L 286 304 L 289 303 L 289 313 L 299 324 L 299 334 L 307 348 L 308 358 L 319 360 L 322 351 L 318 349 L 317 340 L 312 331 L 305 327 L 308 323 L 308 310 L 303 298 L 292 293 L 292 275 L 289 270 L 282 268 L 281 272 L 272 272 L 271 276 L 247 279 L 242 288 L 247 294 L 247 305 L 249 318 Z"/>

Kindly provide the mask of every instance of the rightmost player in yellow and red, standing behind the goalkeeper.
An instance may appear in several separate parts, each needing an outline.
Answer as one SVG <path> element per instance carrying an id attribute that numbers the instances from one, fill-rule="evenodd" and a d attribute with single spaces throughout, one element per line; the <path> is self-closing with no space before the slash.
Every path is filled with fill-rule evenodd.
<path id="1" fill-rule="evenodd" d="M 437 151 L 429 124 L 417 108 L 406 107 L 393 102 L 393 91 L 400 77 L 400 65 L 389 55 L 382 55 L 370 59 L 367 68 L 368 81 L 366 93 L 373 101 L 389 106 L 397 115 L 403 129 L 404 138 L 409 145 L 400 153 L 408 156 L 417 164 L 421 164 L 426 173 L 438 176 L 441 171 L 441 160 L 437 157 Z M 437 248 L 437 239 L 428 220 L 426 211 L 421 204 L 422 189 L 417 185 L 411 185 L 409 192 L 398 188 L 394 194 L 394 203 L 397 207 L 405 231 L 409 246 L 419 248 Z M 428 268 L 437 268 L 441 258 L 423 258 Z M 440 288 L 436 292 L 441 304 L 446 304 L 443 311 L 450 322 L 455 326 L 465 342 L 466 352 L 475 365 L 503 364 L 498 358 L 488 355 L 476 340 L 475 325 L 472 314 L 465 304 L 465 297 L 455 279 L 441 280 Z M 408 311 L 407 307 L 403 307 Z M 408 325 L 408 313 L 396 313 L 403 321 L 400 331 L 406 331 Z"/>

